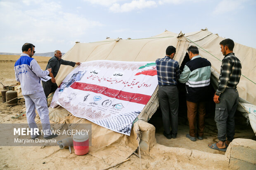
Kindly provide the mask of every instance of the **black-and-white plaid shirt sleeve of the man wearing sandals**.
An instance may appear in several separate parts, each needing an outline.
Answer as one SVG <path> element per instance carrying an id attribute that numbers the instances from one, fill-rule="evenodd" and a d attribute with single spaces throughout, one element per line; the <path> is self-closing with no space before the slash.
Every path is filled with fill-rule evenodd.
<path id="1" fill-rule="evenodd" d="M 232 63 L 228 59 L 223 59 L 222 61 L 222 70 L 219 77 L 219 86 L 216 91 L 216 95 L 220 96 L 221 93 L 225 91 L 230 79 L 230 74 L 232 71 Z"/>

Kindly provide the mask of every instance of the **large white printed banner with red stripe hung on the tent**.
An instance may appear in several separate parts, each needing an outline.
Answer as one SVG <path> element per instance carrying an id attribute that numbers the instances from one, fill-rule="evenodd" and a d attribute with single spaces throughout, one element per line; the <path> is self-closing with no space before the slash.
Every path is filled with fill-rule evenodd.
<path id="1" fill-rule="evenodd" d="M 155 63 L 89 61 L 66 76 L 50 107 L 61 105 L 74 116 L 130 135 L 157 84 Z"/>

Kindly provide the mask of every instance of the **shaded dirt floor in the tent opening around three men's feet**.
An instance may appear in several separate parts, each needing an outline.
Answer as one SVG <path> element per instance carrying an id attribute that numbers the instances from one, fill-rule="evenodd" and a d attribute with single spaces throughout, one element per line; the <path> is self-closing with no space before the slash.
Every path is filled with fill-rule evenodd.
<path id="1" fill-rule="evenodd" d="M 213 109 L 214 110 L 214 109 Z M 204 140 L 192 142 L 186 136 L 189 133 L 189 126 L 186 112 L 179 112 L 178 118 L 178 135 L 176 139 L 166 139 L 163 135 L 164 127 L 162 126 L 161 113 L 156 112 L 149 123 L 156 128 L 156 142 L 168 147 L 182 147 L 186 149 L 197 149 L 213 154 L 225 154 L 223 151 L 213 150 L 208 147 L 208 144 L 218 142 L 218 130 L 214 121 L 214 112 L 206 112 Z M 247 119 L 240 112 L 235 114 L 235 138 L 246 138 L 256 140 L 254 132 L 246 123 Z"/>

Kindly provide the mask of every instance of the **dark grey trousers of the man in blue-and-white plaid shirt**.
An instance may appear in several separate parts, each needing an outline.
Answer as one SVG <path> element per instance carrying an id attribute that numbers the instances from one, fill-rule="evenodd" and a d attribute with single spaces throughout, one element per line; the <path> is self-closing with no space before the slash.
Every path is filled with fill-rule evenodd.
<path id="1" fill-rule="evenodd" d="M 178 132 L 179 96 L 177 86 L 159 86 L 159 104 L 162 111 L 164 131 L 169 134 L 170 114 L 172 133 Z"/>

